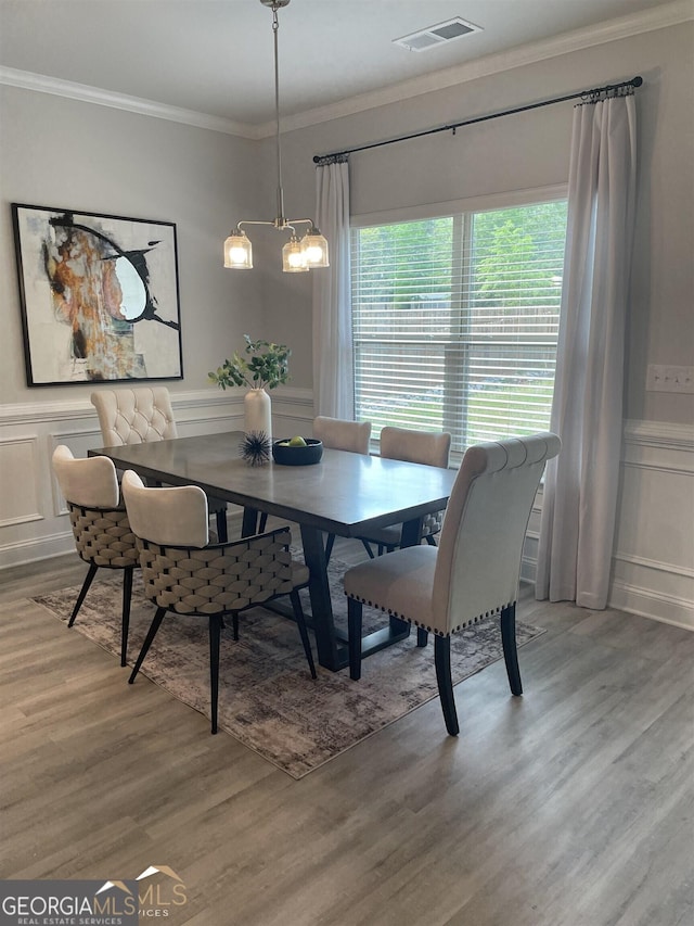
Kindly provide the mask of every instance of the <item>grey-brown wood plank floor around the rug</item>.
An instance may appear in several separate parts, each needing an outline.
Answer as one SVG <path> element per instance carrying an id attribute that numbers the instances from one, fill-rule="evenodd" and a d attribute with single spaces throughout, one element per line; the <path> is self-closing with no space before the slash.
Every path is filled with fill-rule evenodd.
<path id="1" fill-rule="evenodd" d="M 526 595 L 523 698 L 497 663 L 458 738 L 434 700 L 295 782 L 28 600 L 85 571 L 0 575 L 0 877 L 168 865 L 177 926 L 692 926 L 694 634 Z"/>

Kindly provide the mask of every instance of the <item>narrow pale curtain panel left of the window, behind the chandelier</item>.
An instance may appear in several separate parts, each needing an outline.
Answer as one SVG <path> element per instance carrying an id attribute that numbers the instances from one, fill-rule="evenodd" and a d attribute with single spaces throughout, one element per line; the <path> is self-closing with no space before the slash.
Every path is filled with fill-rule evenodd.
<path id="1" fill-rule="evenodd" d="M 313 274 L 313 408 L 355 417 L 349 258 L 349 165 L 317 168 L 317 223 L 327 239 L 330 267 Z"/>

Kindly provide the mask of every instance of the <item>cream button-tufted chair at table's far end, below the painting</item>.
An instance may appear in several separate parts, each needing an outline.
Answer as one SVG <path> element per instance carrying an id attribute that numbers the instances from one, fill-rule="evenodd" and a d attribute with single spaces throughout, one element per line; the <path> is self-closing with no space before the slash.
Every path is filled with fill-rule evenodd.
<path id="1" fill-rule="evenodd" d="M 100 389 L 92 392 L 91 404 L 99 416 L 105 447 L 178 437 L 171 396 L 165 385 Z M 223 498 L 210 497 L 208 504 L 216 519 L 217 535 L 223 543 L 228 538 L 227 503 Z"/>

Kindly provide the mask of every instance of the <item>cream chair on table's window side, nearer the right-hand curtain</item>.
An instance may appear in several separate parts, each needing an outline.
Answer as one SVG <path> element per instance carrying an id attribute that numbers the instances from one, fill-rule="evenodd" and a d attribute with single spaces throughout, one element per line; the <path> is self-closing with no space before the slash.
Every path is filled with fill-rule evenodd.
<path id="1" fill-rule="evenodd" d="M 391 460 L 425 464 L 426 466 L 448 467 L 451 449 L 451 435 L 448 431 L 414 431 L 409 428 L 386 427 L 381 430 L 381 456 Z M 421 540 L 436 546 L 435 536 L 441 530 L 444 511 L 427 515 L 422 523 Z M 369 536 L 360 537 L 367 553 L 373 558 L 371 545 L 374 544 L 378 555 L 384 551 L 393 553 L 400 546 L 402 534 L 401 524 L 389 524 L 387 528 L 374 530 Z"/>

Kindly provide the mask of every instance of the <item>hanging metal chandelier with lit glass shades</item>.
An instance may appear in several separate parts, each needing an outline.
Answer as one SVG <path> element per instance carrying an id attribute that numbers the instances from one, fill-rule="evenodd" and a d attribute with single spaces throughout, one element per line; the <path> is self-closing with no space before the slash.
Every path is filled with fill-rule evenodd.
<path id="1" fill-rule="evenodd" d="M 260 0 L 264 7 L 272 10 L 272 35 L 274 39 L 274 118 L 278 165 L 278 217 L 272 221 L 244 219 L 224 241 L 224 267 L 235 270 L 249 270 L 253 267 L 253 248 L 250 239 L 243 230 L 244 225 L 271 225 L 280 231 L 288 231 L 290 240 L 282 249 L 282 269 L 285 274 L 301 274 L 313 267 L 327 267 L 327 241 L 320 233 L 311 218 L 291 218 L 284 216 L 284 191 L 282 189 L 282 149 L 280 145 L 280 77 L 278 67 L 278 33 L 280 23 L 278 10 L 287 7 L 290 0 Z M 299 239 L 297 226 L 305 226 Z"/>

